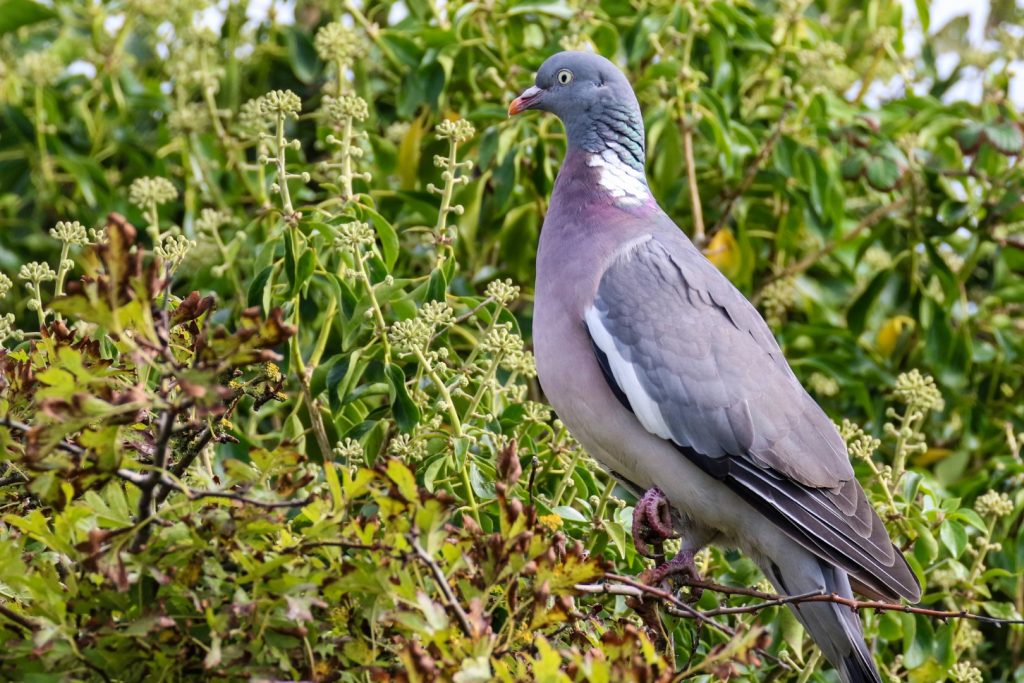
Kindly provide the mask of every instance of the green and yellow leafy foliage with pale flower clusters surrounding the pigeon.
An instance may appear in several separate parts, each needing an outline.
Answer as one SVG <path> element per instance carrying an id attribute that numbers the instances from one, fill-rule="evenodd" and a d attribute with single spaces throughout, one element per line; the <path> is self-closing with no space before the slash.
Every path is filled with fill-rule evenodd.
<path id="1" fill-rule="evenodd" d="M 892 0 L 0 0 L 0 678 L 835 680 L 784 609 L 652 633 L 577 588 L 646 560 L 528 351 L 564 141 L 505 111 L 565 47 L 626 69 L 655 196 L 849 421 L 924 603 L 1020 618 L 996 5 L 978 50 L 919 1 L 906 58 Z M 893 678 L 1024 680 L 1020 627 L 863 617 Z"/>

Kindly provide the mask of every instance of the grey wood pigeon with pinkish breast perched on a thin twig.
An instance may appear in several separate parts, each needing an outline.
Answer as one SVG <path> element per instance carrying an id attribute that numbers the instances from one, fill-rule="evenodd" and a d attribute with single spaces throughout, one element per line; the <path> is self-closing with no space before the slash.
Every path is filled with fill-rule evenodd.
<path id="1" fill-rule="evenodd" d="M 836 426 L 757 309 L 651 195 L 623 73 L 560 52 L 509 114 L 526 110 L 554 114 L 567 136 L 537 255 L 541 385 L 587 451 L 647 492 L 637 550 L 681 535 L 648 580 L 695 575 L 693 554 L 714 543 L 746 553 L 782 594 L 920 600 Z M 881 683 L 855 611 L 791 608 L 843 681 Z"/>

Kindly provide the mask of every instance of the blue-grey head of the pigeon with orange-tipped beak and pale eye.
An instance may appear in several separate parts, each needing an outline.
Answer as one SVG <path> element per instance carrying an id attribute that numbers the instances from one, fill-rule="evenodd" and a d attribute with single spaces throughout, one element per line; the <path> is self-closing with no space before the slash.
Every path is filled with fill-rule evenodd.
<path id="1" fill-rule="evenodd" d="M 509 105 L 509 116 L 540 110 L 565 126 L 569 151 L 611 153 L 643 170 L 644 130 L 640 105 L 615 65 L 591 52 L 558 52 L 541 65 L 537 81 Z"/>

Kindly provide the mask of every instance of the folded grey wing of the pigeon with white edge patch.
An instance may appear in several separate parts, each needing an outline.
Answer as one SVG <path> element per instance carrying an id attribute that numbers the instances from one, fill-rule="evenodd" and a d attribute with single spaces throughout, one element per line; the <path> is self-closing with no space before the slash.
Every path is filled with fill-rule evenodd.
<path id="1" fill-rule="evenodd" d="M 835 425 L 761 315 L 685 239 L 649 237 L 602 275 L 587 329 L 612 390 L 865 594 L 921 587 L 854 477 Z"/>

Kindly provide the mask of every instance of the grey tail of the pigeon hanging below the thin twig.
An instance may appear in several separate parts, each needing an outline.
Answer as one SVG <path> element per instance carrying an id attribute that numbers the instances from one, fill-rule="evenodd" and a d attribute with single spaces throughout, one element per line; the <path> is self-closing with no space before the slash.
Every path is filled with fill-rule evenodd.
<path id="1" fill-rule="evenodd" d="M 852 598 L 850 580 L 842 569 L 800 549 L 784 560 L 765 558 L 762 569 L 779 593 L 801 595 L 824 591 Z M 882 683 L 874 658 L 864 642 L 857 612 L 830 602 L 804 602 L 790 605 L 808 635 L 821 648 L 825 658 L 839 671 L 843 683 Z"/>

